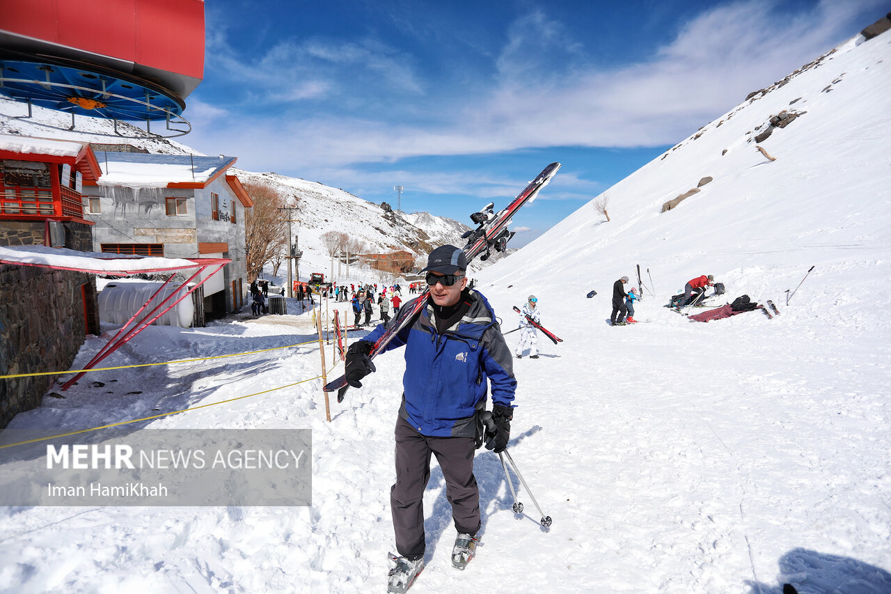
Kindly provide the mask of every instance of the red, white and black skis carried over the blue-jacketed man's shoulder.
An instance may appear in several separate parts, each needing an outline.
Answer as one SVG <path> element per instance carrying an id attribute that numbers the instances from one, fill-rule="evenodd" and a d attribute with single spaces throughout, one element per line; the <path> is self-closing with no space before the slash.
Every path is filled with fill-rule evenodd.
<path id="1" fill-rule="evenodd" d="M 535 196 L 544 186 L 548 185 L 548 182 L 550 182 L 554 174 L 557 173 L 557 169 L 560 169 L 560 163 L 551 163 L 545 167 L 542 172 L 539 173 L 538 176 L 513 199 L 513 202 L 505 206 L 503 210 L 493 213 L 492 204 L 490 203 L 486 204 L 485 209 L 471 215 L 470 219 L 474 222 L 478 222 L 478 220 L 482 222 L 479 222 L 476 229 L 470 230 L 462 235 L 462 238 L 467 240 L 463 252 L 468 262 L 472 261 L 477 256 L 480 256 L 480 254 L 482 254 L 480 260 L 486 260 L 490 254 L 490 250 L 493 248 L 495 249 L 495 252 L 503 252 L 507 248 L 507 243 L 513 235 L 511 231 L 508 231 L 507 227 L 511 224 L 513 215 L 516 214 L 517 210 L 524 204 L 535 200 Z M 424 291 L 424 293 L 421 293 L 420 297 L 399 308 L 399 314 L 396 318 L 393 318 L 387 330 L 381 334 L 377 342 L 374 343 L 370 355 L 372 359 L 374 359 L 378 353 L 383 351 L 388 343 L 393 340 L 393 337 L 396 336 L 396 334 L 399 334 L 403 328 L 413 324 L 414 319 L 420 315 L 421 309 L 424 309 L 427 306 L 428 297 L 429 291 Z M 346 376 L 341 375 L 336 380 L 325 385 L 323 389 L 325 392 L 338 392 L 337 401 L 342 402 L 348 388 L 349 384 L 347 384 Z"/>

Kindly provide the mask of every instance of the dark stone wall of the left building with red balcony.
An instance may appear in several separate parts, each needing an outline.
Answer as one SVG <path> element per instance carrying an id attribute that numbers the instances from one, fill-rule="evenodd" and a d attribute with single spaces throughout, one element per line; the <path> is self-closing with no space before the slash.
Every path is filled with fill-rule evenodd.
<path id="1" fill-rule="evenodd" d="M 65 223 L 65 247 L 91 251 L 90 227 Z M 0 244 L 42 245 L 43 221 L 4 221 Z M 84 299 L 86 293 L 86 315 Z M 95 276 L 0 264 L 0 375 L 65 370 L 87 330 L 99 333 Z M 0 429 L 35 408 L 57 375 L 0 380 Z"/>

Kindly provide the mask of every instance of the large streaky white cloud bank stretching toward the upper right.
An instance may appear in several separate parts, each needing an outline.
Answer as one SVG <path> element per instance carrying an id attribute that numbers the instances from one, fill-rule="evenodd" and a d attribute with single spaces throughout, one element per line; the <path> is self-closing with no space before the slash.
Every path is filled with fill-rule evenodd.
<path id="1" fill-rule="evenodd" d="M 777 18 L 776 3 L 767 0 L 725 4 L 686 23 L 650 60 L 608 70 L 586 62 L 581 45 L 560 23 L 544 12 L 532 12 L 511 27 L 496 59 L 495 81 L 488 86 L 481 81 L 460 100 L 438 93 L 413 96 L 429 82 L 418 77 L 411 59 L 379 42 L 284 43 L 266 53 L 257 62 L 262 68 L 249 74 L 251 66 L 223 51 L 216 58 L 219 64 L 235 76 L 251 77 L 261 91 L 266 87 L 266 101 L 342 93 L 356 81 L 337 78 L 358 70 L 364 70 L 363 81 L 376 80 L 376 87 L 363 88 L 359 95 L 373 95 L 380 87 L 413 94 L 397 93 L 399 102 L 380 110 L 380 117 L 373 111 L 366 111 L 365 118 L 343 116 L 343 111 L 297 111 L 296 117 L 279 111 L 270 117 L 242 117 L 225 130 L 198 131 L 193 137 L 209 135 L 213 142 L 232 144 L 231 152 L 237 154 L 254 152 L 254 159 L 268 163 L 266 169 L 279 170 L 342 169 L 359 162 L 526 147 L 674 144 L 740 103 L 748 92 L 813 60 L 847 33 L 853 35 L 857 26 L 829 0 L 795 18 Z M 529 78 L 524 64 L 536 63 L 536 54 L 529 54 L 530 39 L 536 40 L 533 49 L 560 56 L 565 66 Z M 307 77 L 310 70 L 317 76 Z M 281 88 L 282 80 L 298 82 Z M 388 96 L 370 101 L 386 107 Z M 385 111 L 393 115 L 387 119 Z M 426 123 L 401 123 L 406 111 L 428 114 Z M 270 142 L 273 138 L 280 140 Z M 451 184 L 429 180 L 424 185 Z"/>

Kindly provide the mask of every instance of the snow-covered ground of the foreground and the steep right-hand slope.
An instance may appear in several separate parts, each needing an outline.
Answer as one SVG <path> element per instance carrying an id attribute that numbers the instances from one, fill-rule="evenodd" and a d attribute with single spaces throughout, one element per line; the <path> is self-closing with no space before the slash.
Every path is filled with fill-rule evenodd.
<path id="1" fill-rule="evenodd" d="M 789 108 L 806 113 L 762 143 L 768 161 L 747 139 Z M 481 450 L 482 542 L 456 572 L 434 466 L 428 566 L 412 592 L 891 592 L 891 35 L 846 44 L 700 132 L 610 188 L 611 222 L 585 205 L 478 273 L 505 330 L 511 305 L 535 293 L 564 340 L 541 337 L 541 359 L 515 360 L 511 453 L 553 524 L 538 524 L 515 480 L 526 509 L 511 511 L 498 458 Z M 637 263 L 646 323 L 611 327 L 611 285 L 636 285 Z M 781 315 L 699 324 L 662 307 L 702 274 L 729 300 L 772 299 Z M 305 342 L 310 316 L 151 327 L 106 362 Z M 72 367 L 101 344 L 86 342 Z M 376 364 L 361 390 L 332 400 L 330 424 L 319 380 L 148 423 L 311 428 L 312 507 L 5 507 L 0 590 L 386 590 L 404 364 L 399 351 Z M 15 417 L 0 444 L 272 390 L 319 367 L 305 345 L 96 372 Z"/>

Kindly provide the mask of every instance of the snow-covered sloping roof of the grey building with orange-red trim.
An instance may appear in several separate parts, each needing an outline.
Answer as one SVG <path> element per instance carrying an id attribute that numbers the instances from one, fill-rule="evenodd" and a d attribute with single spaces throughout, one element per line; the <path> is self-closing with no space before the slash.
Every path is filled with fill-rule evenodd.
<path id="1" fill-rule="evenodd" d="M 206 187 L 235 157 L 188 154 L 116 153 L 96 151 L 102 169 L 99 186 Z"/>

